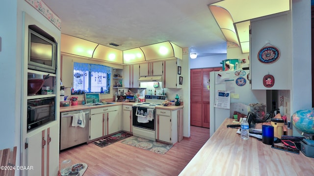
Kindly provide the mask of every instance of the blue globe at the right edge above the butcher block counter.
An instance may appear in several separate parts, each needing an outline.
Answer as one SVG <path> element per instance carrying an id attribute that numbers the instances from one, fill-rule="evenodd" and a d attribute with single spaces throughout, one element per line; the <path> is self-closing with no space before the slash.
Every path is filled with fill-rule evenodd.
<path id="1" fill-rule="evenodd" d="M 298 110 L 293 113 L 292 124 L 302 132 L 314 134 L 314 108 Z"/>

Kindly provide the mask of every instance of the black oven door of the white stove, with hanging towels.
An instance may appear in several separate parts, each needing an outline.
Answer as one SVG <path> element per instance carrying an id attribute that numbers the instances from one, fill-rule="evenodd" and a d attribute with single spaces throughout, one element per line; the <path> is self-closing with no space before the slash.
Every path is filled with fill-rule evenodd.
<path id="1" fill-rule="evenodd" d="M 141 120 L 142 120 L 141 117 L 137 116 L 137 114 L 141 114 L 141 112 L 147 112 L 147 109 L 149 109 L 149 108 L 133 107 L 133 116 L 132 116 L 133 126 L 146 128 L 146 129 L 150 129 L 150 130 L 155 130 L 155 109 L 152 109 L 153 110 L 153 120 L 152 121 L 149 120 L 147 123 L 141 123 Z"/>

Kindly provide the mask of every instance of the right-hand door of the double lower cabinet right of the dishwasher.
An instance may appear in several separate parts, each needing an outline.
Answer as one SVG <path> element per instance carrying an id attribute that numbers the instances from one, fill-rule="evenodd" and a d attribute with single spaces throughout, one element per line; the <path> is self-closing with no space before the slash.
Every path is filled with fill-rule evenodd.
<path id="1" fill-rule="evenodd" d="M 121 130 L 121 117 L 119 117 L 119 114 L 117 110 L 106 113 L 107 135 Z"/>

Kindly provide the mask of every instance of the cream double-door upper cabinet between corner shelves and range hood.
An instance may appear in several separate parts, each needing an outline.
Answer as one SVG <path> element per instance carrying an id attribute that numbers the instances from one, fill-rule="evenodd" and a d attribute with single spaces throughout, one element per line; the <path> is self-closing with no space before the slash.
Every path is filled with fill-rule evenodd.
<path id="1" fill-rule="evenodd" d="M 123 69 L 124 87 L 138 88 L 139 64 L 125 65 Z"/>

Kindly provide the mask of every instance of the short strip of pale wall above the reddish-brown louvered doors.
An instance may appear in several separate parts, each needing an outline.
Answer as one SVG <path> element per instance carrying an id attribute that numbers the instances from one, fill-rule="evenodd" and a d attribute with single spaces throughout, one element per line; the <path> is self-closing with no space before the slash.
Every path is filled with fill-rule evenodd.
<path id="1" fill-rule="evenodd" d="M 190 60 L 190 69 L 222 67 L 222 64 L 220 64 L 220 62 L 227 59 L 227 53 L 221 53 L 206 57 L 197 57 L 196 59 L 190 59 L 189 56 L 187 57 Z"/>

